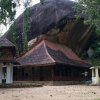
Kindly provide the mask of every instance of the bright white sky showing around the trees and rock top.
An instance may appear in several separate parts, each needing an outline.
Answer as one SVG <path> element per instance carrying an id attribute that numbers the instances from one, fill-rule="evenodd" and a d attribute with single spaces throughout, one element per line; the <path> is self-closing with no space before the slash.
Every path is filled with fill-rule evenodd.
<path id="1" fill-rule="evenodd" d="M 17 7 L 15 18 L 17 18 L 24 11 L 24 6 L 22 5 L 23 1 L 24 0 L 21 0 L 21 6 Z M 71 0 L 71 1 L 75 1 L 75 0 Z M 39 2 L 40 2 L 40 0 L 32 0 L 32 5 L 37 4 Z M 0 33 L 4 34 L 8 29 L 9 29 L 9 25 L 7 25 L 6 27 L 4 25 L 1 25 Z"/>

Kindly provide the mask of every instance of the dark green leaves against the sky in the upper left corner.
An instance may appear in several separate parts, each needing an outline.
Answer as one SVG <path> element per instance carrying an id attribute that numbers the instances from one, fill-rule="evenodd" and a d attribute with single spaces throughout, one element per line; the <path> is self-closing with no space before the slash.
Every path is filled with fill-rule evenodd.
<path id="1" fill-rule="evenodd" d="M 0 24 L 7 24 L 7 19 L 13 20 L 16 4 L 13 0 L 0 0 Z"/>

